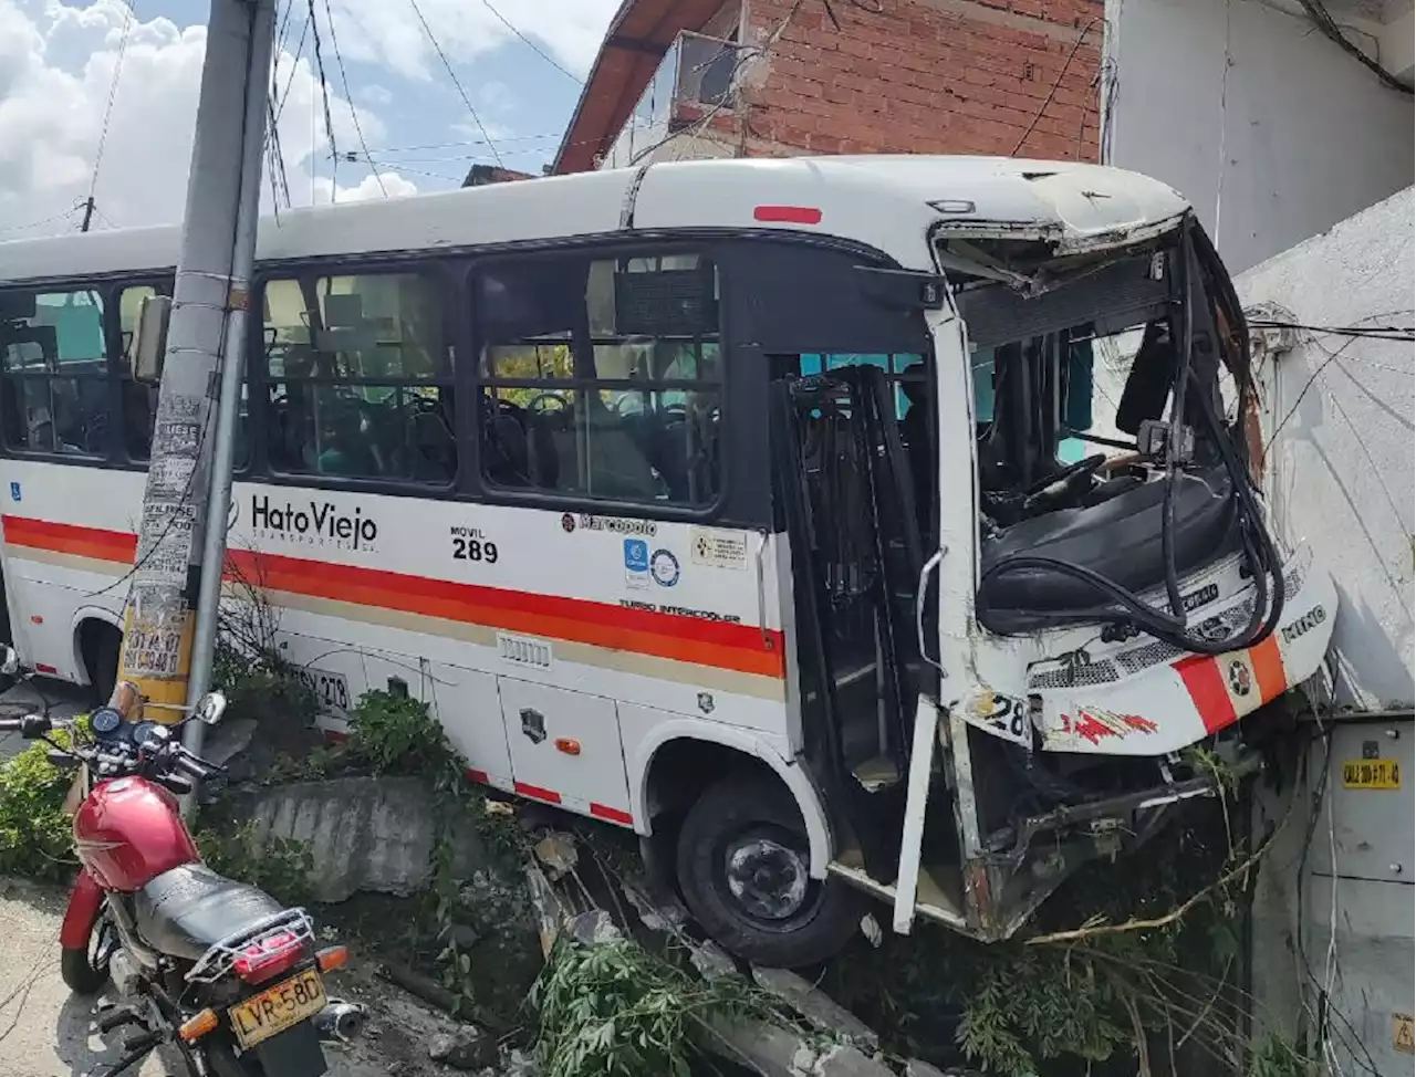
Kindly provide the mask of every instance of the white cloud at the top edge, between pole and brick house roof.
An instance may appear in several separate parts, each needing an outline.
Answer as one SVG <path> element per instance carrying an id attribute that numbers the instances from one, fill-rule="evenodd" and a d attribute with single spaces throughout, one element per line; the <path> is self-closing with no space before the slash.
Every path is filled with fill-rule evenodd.
<path id="1" fill-rule="evenodd" d="M 551 52 L 561 64 L 585 74 L 620 0 L 416 0 L 418 10 L 452 61 L 515 44 L 528 64 L 545 64 L 507 27 Z M 385 64 L 408 78 L 442 78 L 442 61 L 412 10 L 412 0 L 333 0 L 340 45 L 346 57 Z M 493 14 L 493 8 L 504 18 Z M 551 76 L 564 78 L 549 69 Z"/>

